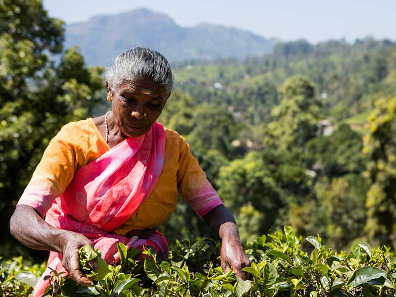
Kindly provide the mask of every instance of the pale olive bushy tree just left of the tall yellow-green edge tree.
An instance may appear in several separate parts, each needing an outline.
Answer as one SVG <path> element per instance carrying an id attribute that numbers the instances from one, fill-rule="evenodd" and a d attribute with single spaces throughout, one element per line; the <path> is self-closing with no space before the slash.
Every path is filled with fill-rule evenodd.
<path id="1" fill-rule="evenodd" d="M 319 233 L 326 245 L 344 248 L 364 236 L 367 184 L 357 174 L 323 176 L 314 185 L 313 197 L 290 206 L 288 221 L 303 236 Z"/>

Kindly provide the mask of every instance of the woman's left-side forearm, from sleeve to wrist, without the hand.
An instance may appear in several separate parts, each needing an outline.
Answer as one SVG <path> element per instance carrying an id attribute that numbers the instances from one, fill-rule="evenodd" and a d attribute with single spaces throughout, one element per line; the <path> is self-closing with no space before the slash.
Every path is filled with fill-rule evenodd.
<path id="1" fill-rule="evenodd" d="M 62 252 L 65 230 L 50 226 L 31 206 L 19 205 L 15 209 L 10 232 L 26 247 Z"/>

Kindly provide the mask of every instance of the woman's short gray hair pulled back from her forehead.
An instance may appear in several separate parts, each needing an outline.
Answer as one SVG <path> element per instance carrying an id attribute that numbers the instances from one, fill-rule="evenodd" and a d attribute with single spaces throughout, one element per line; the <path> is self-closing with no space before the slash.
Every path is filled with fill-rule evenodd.
<path id="1" fill-rule="evenodd" d="M 123 82 L 134 79 L 150 80 L 166 89 L 170 96 L 173 86 L 173 75 L 167 59 L 158 51 L 136 47 L 116 56 L 106 70 L 106 82 L 114 91 Z"/>

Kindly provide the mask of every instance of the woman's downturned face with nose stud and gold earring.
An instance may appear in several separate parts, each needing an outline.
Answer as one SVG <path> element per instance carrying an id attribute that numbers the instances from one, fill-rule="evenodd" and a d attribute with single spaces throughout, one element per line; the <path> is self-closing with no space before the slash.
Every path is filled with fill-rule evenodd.
<path id="1" fill-rule="evenodd" d="M 137 137 L 150 130 L 162 112 L 167 99 L 166 89 L 148 80 L 135 79 L 124 82 L 113 92 L 112 98 L 115 125 L 129 137 Z"/>

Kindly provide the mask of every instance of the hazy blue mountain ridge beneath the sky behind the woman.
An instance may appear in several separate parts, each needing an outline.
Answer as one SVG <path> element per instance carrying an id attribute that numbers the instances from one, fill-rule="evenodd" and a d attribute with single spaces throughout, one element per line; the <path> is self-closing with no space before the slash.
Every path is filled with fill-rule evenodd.
<path id="1" fill-rule="evenodd" d="M 66 26 L 65 48 L 78 45 L 90 65 L 108 65 L 134 46 L 160 51 L 169 61 L 245 58 L 271 51 L 273 43 L 237 28 L 212 24 L 182 27 L 163 13 L 139 8 Z"/>

